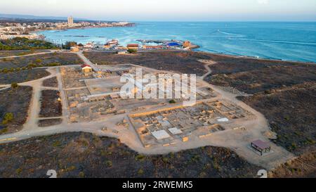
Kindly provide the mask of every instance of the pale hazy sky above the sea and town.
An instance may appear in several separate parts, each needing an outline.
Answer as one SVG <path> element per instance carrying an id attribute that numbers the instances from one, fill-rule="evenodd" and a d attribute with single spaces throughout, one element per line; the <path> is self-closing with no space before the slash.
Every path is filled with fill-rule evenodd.
<path id="1" fill-rule="evenodd" d="M 316 21 L 316 0 L 1 0 L 0 13 L 128 21 Z"/>

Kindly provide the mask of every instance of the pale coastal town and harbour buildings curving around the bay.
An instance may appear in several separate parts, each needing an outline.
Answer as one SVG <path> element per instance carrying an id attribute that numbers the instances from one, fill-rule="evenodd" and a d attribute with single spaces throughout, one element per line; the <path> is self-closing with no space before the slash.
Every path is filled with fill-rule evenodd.
<path id="1" fill-rule="evenodd" d="M 67 22 L 55 22 L 55 23 L 0 23 L 0 39 L 14 39 L 26 38 L 26 39 L 46 39 L 44 35 L 37 32 L 43 30 L 67 30 L 76 29 L 84 27 L 132 27 L 136 25 L 135 23 L 129 22 L 107 22 L 107 23 L 91 23 L 86 21 L 80 21 L 74 23 L 74 18 L 72 16 L 67 18 Z M 50 41 L 46 39 L 46 41 Z M 139 43 L 119 44 L 118 39 L 111 39 L 105 41 L 103 44 L 100 42 L 88 42 L 86 44 L 81 44 L 77 42 L 65 42 L 65 44 L 70 44 L 68 48 L 71 51 L 77 52 L 80 50 L 84 51 L 117 51 L 119 54 L 128 53 L 128 51 L 159 51 L 159 50 L 183 50 L 190 51 L 192 49 L 199 48 L 198 45 L 192 44 L 190 41 L 182 41 L 177 39 L 169 40 L 152 40 L 152 39 L 136 39 Z M 55 46 L 63 48 L 62 43 L 55 43 L 51 41 Z"/>

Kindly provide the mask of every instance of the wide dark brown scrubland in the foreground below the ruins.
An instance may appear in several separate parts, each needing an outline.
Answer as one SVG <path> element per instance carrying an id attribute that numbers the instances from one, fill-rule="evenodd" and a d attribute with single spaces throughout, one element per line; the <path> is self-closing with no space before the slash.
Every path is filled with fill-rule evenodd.
<path id="1" fill-rule="evenodd" d="M 257 177 L 226 148 L 204 147 L 168 155 L 141 155 L 117 139 L 87 133 L 41 136 L 0 144 L 0 177 Z"/>

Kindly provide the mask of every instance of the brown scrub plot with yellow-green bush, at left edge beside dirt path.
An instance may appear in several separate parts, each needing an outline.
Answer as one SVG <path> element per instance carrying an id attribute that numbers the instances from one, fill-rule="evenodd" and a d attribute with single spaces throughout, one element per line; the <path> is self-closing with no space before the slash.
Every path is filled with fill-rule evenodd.
<path id="1" fill-rule="evenodd" d="M 0 134 L 22 129 L 31 98 L 32 87 L 19 86 L 0 91 Z M 6 114 L 11 116 L 10 120 L 6 120 Z"/>

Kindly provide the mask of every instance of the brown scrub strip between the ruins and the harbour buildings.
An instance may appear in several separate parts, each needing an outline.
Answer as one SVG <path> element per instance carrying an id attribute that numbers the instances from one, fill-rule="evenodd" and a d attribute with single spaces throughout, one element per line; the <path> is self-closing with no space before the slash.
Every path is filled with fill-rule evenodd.
<path id="1" fill-rule="evenodd" d="M 109 52 L 85 52 L 84 55 L 98 65 L 116 65 L 131 63 L 157 70 L 167 70 L 185 74 L 203 75 L 204 64 L 199 59 L 208 59 L 209 55 L 198 52 L 157 51 L 138 52 L 136 54 L 118 55 Z"/>

